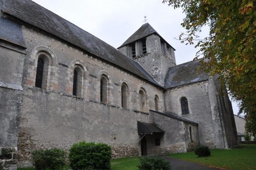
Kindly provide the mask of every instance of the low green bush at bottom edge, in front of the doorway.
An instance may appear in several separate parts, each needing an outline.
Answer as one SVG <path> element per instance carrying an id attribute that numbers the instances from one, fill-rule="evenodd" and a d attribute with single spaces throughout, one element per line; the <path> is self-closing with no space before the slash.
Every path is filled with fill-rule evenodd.
<path id="1" fill-rule="evenodd" d="M 170 170 L 171 163 L 160 156 L 141 156 L 139 170 Z"/>

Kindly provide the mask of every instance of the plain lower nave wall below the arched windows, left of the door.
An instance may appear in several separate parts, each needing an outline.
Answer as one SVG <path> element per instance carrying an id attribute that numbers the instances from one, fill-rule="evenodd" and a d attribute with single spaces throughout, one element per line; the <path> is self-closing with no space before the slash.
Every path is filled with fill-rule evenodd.
<path id="1" fill-rule="evenodd" d="M 52 147 L 68 150 L 80 141 L 107 143 L 112 146 L 112 157 L 139 155 L 137 120 L 150 121 L 149 114 L 24 88 L 19 164 L 30 165 L 32 150 Z"/>

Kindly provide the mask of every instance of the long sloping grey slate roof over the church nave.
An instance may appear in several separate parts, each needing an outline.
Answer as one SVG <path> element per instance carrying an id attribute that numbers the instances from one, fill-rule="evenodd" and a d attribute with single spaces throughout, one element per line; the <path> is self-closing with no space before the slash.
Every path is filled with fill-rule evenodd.
<path id="1" fill-rule="evenodd" d="M 31 0 L 5 0 L 2 10 L 162 87 L 142 66 L 87 31 Z"/>

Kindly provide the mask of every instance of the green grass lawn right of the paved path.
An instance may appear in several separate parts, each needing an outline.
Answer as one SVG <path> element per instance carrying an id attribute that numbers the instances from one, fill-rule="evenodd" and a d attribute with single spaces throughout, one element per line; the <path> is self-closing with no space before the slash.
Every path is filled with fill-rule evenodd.
<path id="1" fill-rule="evenodd" d="M 194 152 L 168 154 L 168 156 L 228 170 L 256 170 L 255 144 L 242 144 L 234 149 L 211 149 L 210 152 L 210 156 L 201 158 Z"/>

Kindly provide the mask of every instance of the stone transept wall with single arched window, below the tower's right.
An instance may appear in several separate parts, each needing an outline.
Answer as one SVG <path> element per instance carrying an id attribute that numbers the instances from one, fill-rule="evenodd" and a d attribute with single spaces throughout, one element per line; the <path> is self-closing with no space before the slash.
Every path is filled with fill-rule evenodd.
<path id="1" fill-rule="evenodd" d="M 210 148 L 224 148 L 223 131 L 214 84 L 205 80 L 165 92 L 166 111 L 198 122 L 200 144 Z M 189 114 L 182 115 L 181 97 L 188 100 Z"/>

